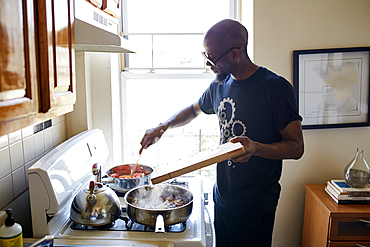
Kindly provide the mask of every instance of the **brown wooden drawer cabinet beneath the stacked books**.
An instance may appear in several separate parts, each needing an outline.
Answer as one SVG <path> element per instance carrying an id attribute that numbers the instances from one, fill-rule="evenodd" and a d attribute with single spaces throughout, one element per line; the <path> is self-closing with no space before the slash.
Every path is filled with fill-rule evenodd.
<path id="1" fill-rule="evenodd" d="M 302 247 L 370 246 L 370 205 L 338 205 L 324 188 L 306 184 Z"/>

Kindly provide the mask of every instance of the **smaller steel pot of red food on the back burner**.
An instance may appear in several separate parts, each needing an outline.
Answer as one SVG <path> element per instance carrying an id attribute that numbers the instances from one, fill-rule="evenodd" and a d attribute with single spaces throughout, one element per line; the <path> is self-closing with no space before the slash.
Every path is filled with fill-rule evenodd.
<path id="1" fill-rule="evenodd" d="M 136 168 L 136 172 L 142 172 L 145 174 L 144 177 L 139 178 L 114 178 L 112 174 L 117 173 L 119 175 L 130 175 L 131 169 Z M 108 177 L 103 178 L 103 182 L 110 188 L 117 192 L 126 193 L 129 190 L 138 186 L 152 184 L 151 174 L 153 169 L 150 166 L 137 165 L 136 164 L 125 164 L 115 166 L 109 169 L 107 172 Z"/>

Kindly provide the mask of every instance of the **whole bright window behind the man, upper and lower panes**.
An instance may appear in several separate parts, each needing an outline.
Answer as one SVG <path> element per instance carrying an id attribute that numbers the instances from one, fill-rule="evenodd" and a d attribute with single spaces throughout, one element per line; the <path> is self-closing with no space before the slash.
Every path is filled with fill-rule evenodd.
<path id="1" fill-rule="evenodd" d="M 145 131 L 196 102 L 213 80 L 201 55 L 203 36 L 216 22 L 235 17 L 237 0 L 122 1 L 122 30 L 136 51 L 125 55 L 122 73 L 124 161 L 132 163 Z M 201 114 L 166 131 L 139 163 L 155 168 L 218 144 L 217 116 Z M 209 192 L 215 166 L 201 173 Z"/>

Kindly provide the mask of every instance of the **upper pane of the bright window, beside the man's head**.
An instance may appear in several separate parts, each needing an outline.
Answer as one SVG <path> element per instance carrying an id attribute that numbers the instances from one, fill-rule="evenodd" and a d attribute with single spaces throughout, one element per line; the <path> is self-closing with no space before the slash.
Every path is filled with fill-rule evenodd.
<path id="1" fill-rule="evenodd" d="M 216 22 L 234 18 L 235 0 L 123 0 L 122 31 L 136 54 L 128 70 L 205 69 L 203 35 Z M 145 71 L 146 72 L 146 71 Z"/>

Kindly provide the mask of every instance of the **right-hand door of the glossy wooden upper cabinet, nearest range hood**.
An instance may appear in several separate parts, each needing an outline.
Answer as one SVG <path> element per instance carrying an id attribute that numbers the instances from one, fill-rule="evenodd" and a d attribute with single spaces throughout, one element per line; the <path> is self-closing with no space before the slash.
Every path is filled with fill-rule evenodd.
<path id="1" fill-rule="evenodd" d="M 76 101 L 73 0 L 39 0 L 41 112 Z"/>

